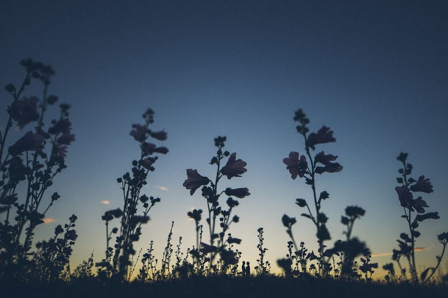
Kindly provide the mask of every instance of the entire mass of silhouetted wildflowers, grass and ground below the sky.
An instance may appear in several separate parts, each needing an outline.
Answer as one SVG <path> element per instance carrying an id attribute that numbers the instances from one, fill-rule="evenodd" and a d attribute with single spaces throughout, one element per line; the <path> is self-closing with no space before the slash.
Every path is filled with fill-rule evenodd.
<path id="1" fill-rule="evenodd" d="M 99 215 L 105 224 L 105 252 L 101 256 L 92 254 L 71 268 L 70 257 L 78 238 L 76 215 L 71 215 L 64 226 L 56 226 L 50 239 L 34 242 L 35 227 L 45 222 L 46 212 L 61 198 L 50 189 L 53 179 L 67 167 L 67 150 L 75 141 L 70 105 L 60 104 L 59 112 L 55 112 L 59 98 L 49 93 L 55 74 L 51 66 L 31 59 L 21 61 L 21 65 L 25 71 L 23 81 L 5 86 L 11 102 L 6 126 L 0 130 L 0 297 L 448 296 L 448 276 L 440 266 L 448 243 L 447 232 L 437 233 L 441 252 L 432 267 L 418 270 L 415 251 L 421 233 L 417 229 L 423 222 L 438 220 L 440 216 L 425 210 L 429 205 L 422 195 L 432 193 L 433 185 L 424 175 L 411 177 L 413 166 L 407 153 L 397 157 L 401 167 L 400 177 L 396 178 L 399 186 L 395 188 L 397 204 L 403 208 L 403 214 L 397 217 L 406 220 L 407 230 L 399 234 L 398 247 L 392 250 L 395 263 L 382 266 L 387 275 L 381 281 L 373 281 L 379 265 L 371 261 L 367 243 L 353 234 L 354 223 L 366 213 L 363 208 L 345 208 L 340 220 L 344 237 L 330 242 L 324 206 L 331 196 L 322 189 L 319 177 L 338 173 L 343 166 L 336 162 L 337 155 L 315 151 L 316 147 L 335 143 L 336 138 L 326 126 L 310 133 L 310 120 L 302 110 L 296 111 L 294 121 L 303 154 L 291 151 L 283 163 L 293 180 L 299 177 L 296 181 L 303 181 L 311 190 L 308 196 L 305 194 L 307 199 L 298 198 L 295 205 L 301 210 L 297 214 L 307 218 L 316 232 L 316 252 L 307 249 L 309 243 L 301 241 L 296 230 L 293 233 L 296 218 L 285 214 L 279 215 L 279 224 L 286 228 L 290 241 L 284 246 L 286 257 L 277 260 L 282 275 L 271 273 L 271 263 L 265 257 L 268 248 L 264 246 L 263 227 L 256 231 L 256 263 L 242 261 L 242 251 L 236 248 L 241 239 L 230 233 L 230 226 L 236 230 L 239 222 L 235 215 L 238 200 L 250 196 L 247 187 L 237 185 L 237 178 L 247 172 L 247 164 L 237 158 L 236 152 L 226 150 L 227 139 L 221 136 L 214 139 L 216 155 L 205 160 L 213 167 L 208 176 L 197 169 L 186 170 L 183 186 L 191 196 L 199 190 L 204 199 L 204 211 L 194 209 L 186 215 L 194 221 L 195 243 L 187 244 L 185 249 L 182 237 L 178 241 L 172 239 L 173 222 L 159 261 L 154 255 L 153 241 L 146 251 L 137 252 L 134 243 L 140 239 L 142 225 L 148 224 L 150 211 L 161 202 L 160 198 L 144 194 L 143 187 L 155 170 L 157 154 L 169 151 L 150 143 L 165 141 L 167 133 L 152 129 L 154 112 L 147 109 L 143 121 L 133 124 L 130 132 L 139 154 L 130 162 L 129 172 L 114 178 L 122 194 L 122 209 L 117 206 Z M 31 83 L 42 87 L 41 95 L 23 95 Z M 49 111 L 55 117 L 50 121 L 44 117 Z M 20 130 L 26 127 L 27 132 L 18 140 L 9 140 L 8 132 L 13 126 Z M 287 175 L 285 178 L 289 179 Z M 232 179 L 236 187 L 223 188 L 223 179 Z"/>

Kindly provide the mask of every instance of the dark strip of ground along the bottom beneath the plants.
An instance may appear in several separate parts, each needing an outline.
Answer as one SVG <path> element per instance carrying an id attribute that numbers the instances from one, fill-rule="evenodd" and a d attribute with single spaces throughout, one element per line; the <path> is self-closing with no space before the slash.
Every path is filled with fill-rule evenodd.
<path id="1" fill-rule="evenodd" d="M 152 284 L 101 283 L 95 280 L 80 280 L 65 284 L 40 283 L 17 284 L 0 281 L 0 297 L 52 298 L 52 297 L 418 297 L 448 298 L 448 287 L 415 287 L 409 284 L 380 284 L 347 282 L 314 278 L 286 279 L 280 277 L 255 278 L 190 278 L 185 280 L 160 281 Z"/>

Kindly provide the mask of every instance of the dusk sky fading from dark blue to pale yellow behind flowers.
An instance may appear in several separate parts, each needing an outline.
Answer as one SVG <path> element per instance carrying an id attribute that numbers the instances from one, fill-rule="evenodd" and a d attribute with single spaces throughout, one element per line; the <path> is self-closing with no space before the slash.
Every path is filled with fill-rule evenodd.
<path id="1" fill-rule="evenodd" d="M 318 192 L 330 193 L 323 204 L 329 244 L 344 237 L 345 207 L 357 205 L 366 215 L 353 235 L 383 254 L 375 258 L 380 265 L 390 262 L 387 254 L 406 230 L 394 190 L 395 157 L 405 151 L 413 176 L 426 175 L 434 186 L 423 198 L 441 219 L 421 224 L 416 244 L 427 248 L 417 253 L 418 267 L 434 264 L 437 234 L 448 226 L 448 5 L 360 2 L 1 1 L 0 85 L 18 83 L 18 62 L 31 57 L 53 66 L 50 92 L 72 105 L 76 142 L 49 192 L 61 198 L 47 214 L 54 222 L 38 226 L 35 238 L 50 237 L 76 214 L 72 264 L 92 251 L 95 261 L 103 258 L 101 215 L 122 206 L 116 178 L 139 157 L 129 131 L 150 107 L 153 128 L 168 132 L 163 145 L 170 151 L 143 189 L 162 201 L 137 249 L 154 240 L 160 259 L 171 221 L 184 251 L 195 243 L 187 212 L 207 207 L 199 191 L 190 196 L 182 186 L 185 170 L 212 177 L 213 139 L 221 135 L 225 149 L 247 162 L 241 178 L 222 184 L 251 193 L 239 200 L 240 222 L 230 228 L 242 238 L 242 259 L 256 263 L 258 227 L 264 227 L 266 258 L 275 264 L 286 255 L 285 213 L 298 220 L 295 238 L 316 250 L 314 226 L 294 204 L 312 199 L 311 189 L 292 180 L 282 162 L 290 151 L 304 152 L 293 121 L 302 108 L 311 131 L 334 130 L 336 143 L 318 150 L 338 155 L 343 165 L 316 182 Z M 3 92 L 1 129 L 9 102 Z M 22 134 L 14 130 L 11 142 Z"/>

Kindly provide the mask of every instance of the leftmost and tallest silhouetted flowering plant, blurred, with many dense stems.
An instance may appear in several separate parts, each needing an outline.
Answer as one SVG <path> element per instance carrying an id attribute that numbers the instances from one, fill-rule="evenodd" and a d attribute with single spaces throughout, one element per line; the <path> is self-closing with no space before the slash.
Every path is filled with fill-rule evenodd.
<path id="1" fill-rule="evenodd" d="M 31 59 L 22 60 L 20 64 L 25 69 L 25 77 L 19 87 L 12 83 L 5 86 L 12 102 L 7 109 L 6 127 L 0 131 L 0 204 L 4 205 L 0 212 L 6 212 L 4 223 L 0 223 L 0 277 L 6 272 L 8 277 L 23 277 L 23 272 L 34 270 L 29 267 L 32 265 L 29 257 L 34 255 L 30 252 L 33 231 L 60 198 L 55 192 L 47 200 L 46 191 L 55 176 L 67 167 L 67 148 L 75 140 L 68 104 L 60 105 L 59 119 L 53 119 L 51 126 L 45 129 L 45 112 L 58 101 L 56 95 L 48 94 L 51 77 L 55 74 L 53 68 Z M 43 85 L 41 98 L 22 97 L 32 80 Z M 23 129 L 34 122 L 34 131 L 28 131 L 7 147 L 8 132 L 14 123 Z M 26 189 L 21 202 L 16 192 L 20 188 Z"/>

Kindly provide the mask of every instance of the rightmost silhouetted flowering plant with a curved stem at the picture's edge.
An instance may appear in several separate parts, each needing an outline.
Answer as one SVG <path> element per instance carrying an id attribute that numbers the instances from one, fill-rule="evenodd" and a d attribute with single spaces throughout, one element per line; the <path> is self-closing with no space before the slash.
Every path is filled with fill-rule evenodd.
<path id="1" fill-rule="evenodd" d="M 417 284 L 419 282 L 419 276 L 417 274 L 417 267 L 415 262 L 415 242 L 416 239 L 420 237 L 420 232 L 417 230 L 417 228 L 423 221 L 429 219 L 438 220 L 440 217 L 438 212 L 425 213 L 425 208 L 428 208 L 429 206 L 421 196 L 418 196 L 417 199 L 414 199 L 414 194 L 417 192 L 423 192 L 427 194 L 432 193 L 433 185 L 431 184 L 430 179 L 425 178 L 425 176 L 420 176 L 418 180 L 410 177 L 413 166 L 412 164 L 407 162 L 407 158 L 408 153 L 403 152 L 401 152 L 397 157 L 397 160 L 402 163 L 403 167 L 398 170 L 398 172 L 401 174 L 401 177 L 397 178 L 397 182 L 401 184 L 401 186 L 395 187 L 395 191 L 398 194 L 398 199 L 404 211 L 404 215 L 402 215 L 401 217 L 405 218 L 408 222 L 409 234 L 404 232 L 400 234 L 400 239 L 397 240 L 399 249 L 393 250 L 392 259 L 397 261 L 402 272 L 405 273 L 404 269 L 402 269 L 401 267 L 399 260 L 401 256 L 406 257 L 409 263 L 411 279 L 413 283 Z M 418 213 L 414 218 L 412 218 L 413 212 Z M 442 257 L 445 253 L 445 248 L 447 246 L 447 235 L 447 232 L 438 235 L 438 239 L 443 245 L 442 254 L 436 257 L 437 264 L 435 267 L 427 268 L 420 275 L 420 281 L 423 284 L 431 279 L 442 261 Z M 428 276 L 428 273 L 430 271 L 431 274 Z M 404 277 L 406 276 L 404 275 Z"/>

